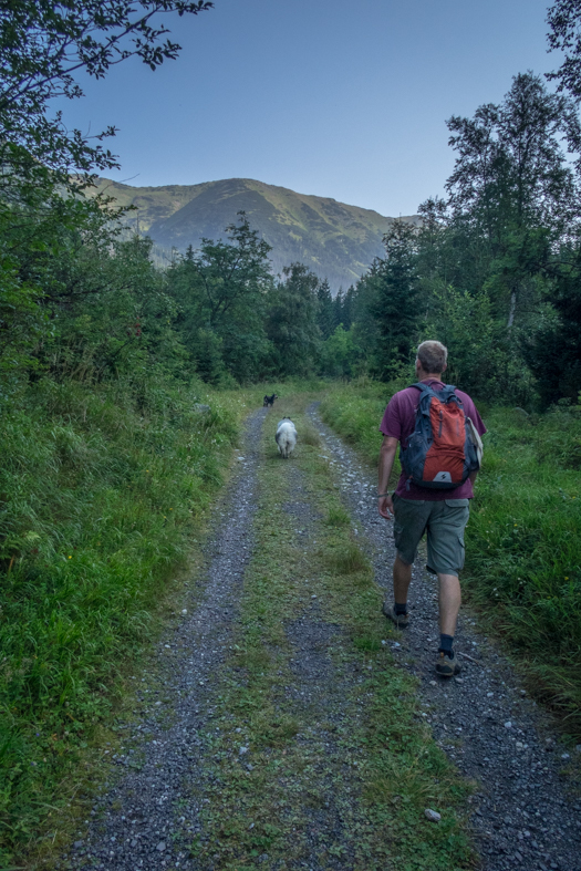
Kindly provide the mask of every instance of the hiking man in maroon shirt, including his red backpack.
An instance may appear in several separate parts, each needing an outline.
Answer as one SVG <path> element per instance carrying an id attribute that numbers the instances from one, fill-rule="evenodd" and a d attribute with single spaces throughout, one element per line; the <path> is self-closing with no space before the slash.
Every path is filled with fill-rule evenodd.
<path id="1" fill-rule="evenodd" d="M 454 656 L 461 602 L 458 572 L 464 567 L 464 530 L 479 466 L 479 436 L 486 433 L 470 397 L 442 381 L 447 353 L 440 342 L 422 342 L 415 363 L 418 383 L 390 400 L 380 426 L 384 437 L 377 496 L 380 515 L 386 520 L 394 517 L 394 604 L 386 601 L 383 613 L 398 629 L 409 622 L 412 563 L 427 531 L 426 568 L 439 582 L 436 672 L 442 677 L 460 671 Z M 387 487 L 397 443 L 403 470 L 392 497 Z"/>

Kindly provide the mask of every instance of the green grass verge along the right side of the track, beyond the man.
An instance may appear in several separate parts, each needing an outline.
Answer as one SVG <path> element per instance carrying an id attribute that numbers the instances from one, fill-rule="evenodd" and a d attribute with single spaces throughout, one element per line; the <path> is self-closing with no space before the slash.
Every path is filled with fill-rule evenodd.
<path id="1" fill-rule="evenodd" d="M 385 385 L 332 387 L 324 419 L 376 464 Z M 488 434 L 463 585 L 530 688 L 581 736 L 581 415 L 483 409 Z M 395 480 L 392 481 L 392 485 Z"/>

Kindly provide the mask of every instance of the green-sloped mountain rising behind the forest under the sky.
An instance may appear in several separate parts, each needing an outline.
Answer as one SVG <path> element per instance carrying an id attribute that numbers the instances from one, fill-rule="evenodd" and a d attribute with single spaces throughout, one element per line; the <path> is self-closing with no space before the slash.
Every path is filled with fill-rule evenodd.
<path id="1" fill-rule="evenodd" d="M 334 291 L 349 287 L 382 255 L 382 237 L 394 220 L 371 209 L 347 206 L 328 197 L 297 194 L 284 187 L 248 178 L 228 178 L 201 185 L 132 187 L 106 178 L 97 191 L 120 205 L 134 205 L 127 224 L 148 235 L 162 251 L 198 247 L 201 238 L 225 239 L 225 227 L 246 211 L 253 229 L 272 246 L 274 273 L 300 261 Z M 417 221 L 415 216 L 404 220 Z"/>

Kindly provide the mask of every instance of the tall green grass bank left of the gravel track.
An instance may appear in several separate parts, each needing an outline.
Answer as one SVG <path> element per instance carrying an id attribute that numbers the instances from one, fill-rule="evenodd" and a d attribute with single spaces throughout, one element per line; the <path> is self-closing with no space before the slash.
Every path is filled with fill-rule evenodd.
<path id="1" fill-rule="evenodd" d="M 199 388 L 199 385 L 198 385 Z M 206 392 L 206 388 L 204 388 Z M 196 401 L 210 405 L 195 408 Z M 242 393 L 31 385 L 0 417 L 0 858 L 42 827 L 222 479 Z"/>

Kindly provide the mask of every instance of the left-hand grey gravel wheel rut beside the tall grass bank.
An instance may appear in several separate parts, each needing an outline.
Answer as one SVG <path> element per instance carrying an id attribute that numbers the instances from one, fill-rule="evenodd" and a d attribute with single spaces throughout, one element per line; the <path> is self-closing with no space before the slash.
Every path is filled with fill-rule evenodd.
<path id="1" fill-rule="evenodd" d="M 200 830 L 206 779 L 205 739 L 212 727 L 211 677 L 224 660 L 246 564 L 252 550 L 257 466 L 264 409 L 252 414 L 238 453 L 240 468 L 215 511 L 207 546 L 206 589 L 158 647 L 159 675 L 153 691 L 143 678 L 141 723 L 129 726 L 122 767 L 91 811 L 91 820 L 61 867 L 135 871 L 195 868 L 186 844 Z M 232 498 L 231 494 L 236 494 Z M 187 603 L 186 603 L 187 604 Z"/>

